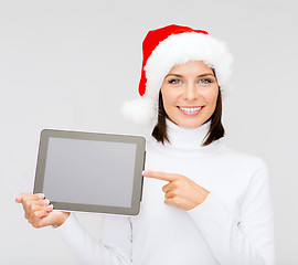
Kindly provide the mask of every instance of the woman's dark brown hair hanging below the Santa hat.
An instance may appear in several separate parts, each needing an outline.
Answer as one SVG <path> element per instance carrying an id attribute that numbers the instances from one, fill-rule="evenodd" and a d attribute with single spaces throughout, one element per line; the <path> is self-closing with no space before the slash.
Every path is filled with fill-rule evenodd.
<path id="1" fill-rule="evenodd" d="M 170 142 L 168 134 L 167 134 L 166 118 L 167 118 L 167 113 L 163 108 L 162 95 L 160 91 L 159 99 L 158 99 L 158 123 L 152 130 L 152 136 L 157 139 L 157 141 L 160 141 L 162 144 L 164 144 L 164 141 Z M 205 123 L 207 123 L 209 120 L 211 120 L 210 129 L 205 136 L 206 139 L 204 140 L 202 146 L 207 146 L 212 141 L 219 140 L 220 138 L 224 136 L 224 127 L 222 125 L 222 94 L 221 94 L 220 86 L 219 86 L 216 107 L 212 116 Z"/>

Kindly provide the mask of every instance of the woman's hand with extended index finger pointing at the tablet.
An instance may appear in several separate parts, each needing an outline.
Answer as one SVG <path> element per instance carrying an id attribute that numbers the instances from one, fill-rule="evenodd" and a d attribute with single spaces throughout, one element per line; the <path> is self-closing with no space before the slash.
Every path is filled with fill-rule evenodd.
<path id="1" fill-rule="evenodd" d="M 170 183 L 162 187 L 162 191 L 166 193 L 164 203 L 187 211 L 203 203 L 210 193 L 203 187 L 182 174 L 145 170 L 142 176 L 169 181 Z"/>

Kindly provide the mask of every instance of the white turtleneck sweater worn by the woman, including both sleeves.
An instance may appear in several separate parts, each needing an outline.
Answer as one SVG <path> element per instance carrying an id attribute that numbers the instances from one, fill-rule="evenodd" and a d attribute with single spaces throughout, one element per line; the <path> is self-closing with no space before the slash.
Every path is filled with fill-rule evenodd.
<path id="1" fill-rule="evenodd" d="M 74 213 L 56 229 L 85 264 L 273 265 L 274 229 L 267 168 L 259 158 L 201 142 L 196 129 L 167 120 L 171 144 L 147 144 L 146 169 L 183 174 L 210 191 L 184 211 L 164 204 L 162 180 L 145 178 L 137 216 L 104 214 L 96 242 Z"/>

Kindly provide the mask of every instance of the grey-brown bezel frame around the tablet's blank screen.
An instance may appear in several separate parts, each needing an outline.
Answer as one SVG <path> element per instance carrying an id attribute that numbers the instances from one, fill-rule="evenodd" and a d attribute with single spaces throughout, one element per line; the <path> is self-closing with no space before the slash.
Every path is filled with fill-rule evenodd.
<path id="1" fill-rule="evenodd" d="M 44 173 L 45 173 L 45 165 L 46 165 L 46 156 L 47 156 L 50 138 L 66 138 L 66 139 L 83 139 L 83 140 L 136 144 L 136 161 L 135 161 L 132 197 L 131 197 L 130 208 L 94 205 L 94 204 L 83 204 L 83 203 L 82 204 L 68 203 L 68 202 L 61 202 L 61 201 L 51 201 L 51 203 L 53 204 L 55 210 L 97 212 L 97 213 L 110 213 L 110 214 L 124 214 L 124 215 L 139 214 L 140 201 L 141 201 L 141 195 L 142 195 L 142 182 L 143 182 L 143 177 L 141 172 L 145 167 L 145 155 L 146 155 L 145 137 L 131 136 L 131 135 L 43 129 L 40 136 L 40 147 L 39 147 L 33 193 L 43 193 Z M 51 199 L 51 198 L 47 198 L 47 199 Z"/>

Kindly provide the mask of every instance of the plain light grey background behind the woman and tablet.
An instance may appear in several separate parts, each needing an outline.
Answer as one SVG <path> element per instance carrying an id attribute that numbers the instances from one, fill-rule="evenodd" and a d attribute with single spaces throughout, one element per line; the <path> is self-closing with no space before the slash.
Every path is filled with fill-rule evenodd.
<path id="1" fill-rule="evenodd" d="M 1 0 L 0 264 L 78 264 L 14 198 L 33 189 L 43 128 L 148 135 L 119 105 L 138 96 L 147 31 L 169 23 L 207 30 L 234 54 L 225 141 L 267 162 L 276 261 L 298 264 L 297 11 L 295 0 Z M 100 237 L 99 214 L 78 218 Z"/>

